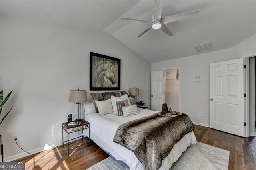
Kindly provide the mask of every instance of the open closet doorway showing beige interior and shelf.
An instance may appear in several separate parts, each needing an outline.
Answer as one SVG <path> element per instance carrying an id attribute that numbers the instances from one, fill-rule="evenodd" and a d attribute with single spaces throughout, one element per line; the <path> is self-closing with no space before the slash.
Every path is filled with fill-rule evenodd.
<path id="1" fill-rule="evenodd" d="M 178 111 L 180 108 L 180 73 L 179 69 L 164 70 L 164 101 L 168 109 Z"/>

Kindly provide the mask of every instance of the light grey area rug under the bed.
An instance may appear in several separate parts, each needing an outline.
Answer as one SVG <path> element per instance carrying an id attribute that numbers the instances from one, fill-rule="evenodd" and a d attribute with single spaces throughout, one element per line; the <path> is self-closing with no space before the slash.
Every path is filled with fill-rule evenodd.
<path id="1" fill-rule="evenodd" d="M 170 170 L 227 170 L 229 151 L 201 142 L 191 145 L 172 165 Z M 127 170 L 128 168 L 108 157 L 87 170 Z"/>

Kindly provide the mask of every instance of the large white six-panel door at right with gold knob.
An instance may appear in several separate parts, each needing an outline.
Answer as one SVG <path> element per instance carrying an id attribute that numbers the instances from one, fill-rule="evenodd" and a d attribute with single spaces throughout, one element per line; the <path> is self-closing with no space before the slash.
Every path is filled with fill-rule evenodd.
<path id="1" fill-rule="evenodd" d="M 244 60 L 210 64 L 210 127 L 244 136 Z"/>

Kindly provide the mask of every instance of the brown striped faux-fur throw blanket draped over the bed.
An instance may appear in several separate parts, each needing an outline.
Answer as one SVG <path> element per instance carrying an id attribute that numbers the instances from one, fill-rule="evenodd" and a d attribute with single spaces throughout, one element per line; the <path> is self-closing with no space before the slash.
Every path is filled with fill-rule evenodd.
<path id="1" fill-rule="evenodd" d="M 161 117 L 157 114 L 123 123 L 113 142 L 132 150 L 147 170 L 157 170 L 174 144 L 194 130 L 188 115 Z"/>

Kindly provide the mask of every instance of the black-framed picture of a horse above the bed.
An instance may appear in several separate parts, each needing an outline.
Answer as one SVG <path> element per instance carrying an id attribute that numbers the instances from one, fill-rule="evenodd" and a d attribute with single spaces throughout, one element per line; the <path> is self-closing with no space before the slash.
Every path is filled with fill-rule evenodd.
<path id="1" fill-rule="evenodd" d="M 90 90 L 120 90 L 121 60 L 90 52 Z"/>

